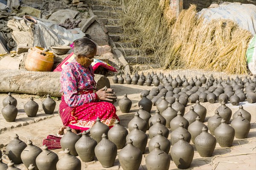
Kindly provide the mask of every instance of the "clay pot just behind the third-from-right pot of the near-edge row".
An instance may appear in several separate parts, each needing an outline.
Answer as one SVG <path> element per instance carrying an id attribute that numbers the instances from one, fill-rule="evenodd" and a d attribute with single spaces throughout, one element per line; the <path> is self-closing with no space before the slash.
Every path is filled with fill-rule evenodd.
<path id="1" fill-rule="evenodd" d="M 191 134 L 191 141 L 193 144 L 195 144 L 195 137 L 202 132 L 202 128 L 204 126 L 205 126 L 204 123 L 200 122 L 200 116 L 197 116 L 197 118 L 195 119 L 195 122 L 189 125 L 188 131 Z"/>

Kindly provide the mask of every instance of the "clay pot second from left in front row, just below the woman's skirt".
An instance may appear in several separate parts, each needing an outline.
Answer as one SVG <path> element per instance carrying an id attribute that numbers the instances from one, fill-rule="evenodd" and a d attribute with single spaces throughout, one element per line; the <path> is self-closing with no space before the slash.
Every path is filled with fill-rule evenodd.
<path id="1" fill-rule="evenodd" d="M 76 152 L 82 161 L 93 161 L 95 157 L 94 149 L 96 145 L 97 142 L 90 138 L 85 131 L 83 131 L 82 137 L 75 144 Z"/>

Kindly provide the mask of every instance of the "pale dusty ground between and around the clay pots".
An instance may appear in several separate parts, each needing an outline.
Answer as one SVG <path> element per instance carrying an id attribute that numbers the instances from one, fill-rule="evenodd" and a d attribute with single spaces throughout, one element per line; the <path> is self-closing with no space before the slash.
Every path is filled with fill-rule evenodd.
<path id="1" fill-rule="evenodd" d="M 215 78 L 219 78 L 220 76 L 222 79 L 227 78 L 227 74 L 221 73 L 221 72 L 210 72 L 210 71 L 200 71 L 200 70 L 173 70 L 171 71 L 163 71 L 163 70 L 154 70 L 157 71 L 157 74 L 161 71 L 164 73 L 164 75 L 168 76 L 168 74 L 171 74 L 172 77 L 177 77 L 177 74 L 180 76 L 183 76 L 183 74 L 186 75 L 186 77 L 201 77 L 201 75 L 204 73 L 205 76 L 208 78 L 211 74 Z M 145 74 L 148 71 L 145 71 Z M 151 70 L 150 70 L 151 72 Z M 140 72 L 139 72 L 140 74 Z M 230 78 L 236 78 L 236 75 L 230 76 Z M 244 75 L 239 75 L 239 77 L 244 77 Z M 253 78 L 253 77 L 251 77 Z M 112 82 L 112 77 L 109 77 L 110 82 L 111 82 L 111 88 L 114 89 L 116 92 L 118 99 L 117 102 L 115 103 L 115 106 L 117 108 L 117 115 L 120 118 L 120 124 L 123 125 L 124 127 L 128 127 L 128 122 L 134 117 L 135 111 L 138 110 L 137 103 L 140 101 L 140 92 L 143 89 L 152 89 L 154 86 L 148 87 L 146 85 L 140 86 L 140 85 L 127 85 L 127 84 L 113 84 Z M 121 113 L 118 107 L 118 101 L 119 99 L 122 99 L 123 95 L 127 93 L 128 98 L 132 100 L 133 106 L 131 108 L 130 113 Z M 6 94 L 0 94 L 0 101 L 3 100 L 3 98 L 6 96 Z M 18 105 L 19 105 L 19 113 L 16 119 L 16 122 L 13 123 L 11 126 L 10 123 L 5 122 L 3 119 L 3 116 L 0 115 L 0 126 L 1 126 L 1 134 L 0 134 L 0 139 L 1 142 L 0 144 L 6 145 L 9 143 L 9 141 L 12 139 L 15 133 L 17 133 L 20 138 L 23 141 L 27 141 L 29 139 L 34 142 L 35 145 L 38 145 L 39 147 L 42 146 L 42 141 L 43 139 L 48 135 L 48 134 L 56 134 L 59 127 L 62 126 L 61 119 L 58 116 L 58 103 L 57 102 L 57 107 L 55 109 L 55 114 L 53 115 L 46 115 L 44 114 L 43 111 L 40 110 L 39 108 L 39 113 L 38 117 L 36 118 L 27 118 L 26 113 L 23 111 L 23 104 L 26 103 L 29 99 L 29 95 L 18 95 L 15 94 L 13 95 L 17 100 L 18 100 Z M 39 96 L 36 96 L 37 99 L 35 99 L 36 102 L 41 103 L 42 98 Z M 186 107 L 186 112 L 189 111 L 189 108 L 193 106 L 194 104 L 188 104 Z M 204 122 L 205 125 L 207 125 L 207 120 L 209 119 L 210 116 L 214 115 L 214 111 L 216 108 L 220 106 L 219 102 L 215 102 L 214 104 L 210 104 L 208 102 L 201 103 L 201 105 L 204 105 L 207 108 L 207 117 Z M 251 129 L 250 133 L 247 136 L 247 139 L 234 139 L 233 141 L 233 146 L 232 147 L 220 147 L 219 144 L 216 145 L 215 150 L 213 152 L 212 157 L 209 158 L 202 158 L 199 156 L 198 152 L 195 149 L 195 155 L 194 159 L 192 161 L 191 166 L 189 169 L 195 169 L 195 170 L 255 170 L 256 169 L 256 103 L 249 104 L 247 102 L 240 102 L 240 105 L 244 106 L 244 109 L 246 111 L 249 111 L 252 115 L 251 119 Z M 1 105 L 2 106 L 2 105 Z M 232 112 L 234 113 L 235 111 L 238 110 L 239 106 L 233 106 L 230 103 L 227 103 L 227 106 L 230 107 Z M 153 106 L 151 110 L 151 114 L 154 115 L 156 111 L 156 107 Z M 185 113 L 186 113 L 185 112 Z M 232 119 L 231 119 L 232 120 Z M 30 121 L 30 122 L 29 122 Z M 27 122 L 27 123 L 26 123 Z M 20 125 L 19 125 L 20 124 Z M 2 127 L 8 126 L 8 128 L 4 129 Z M 170 139 L 170 137 L 169 137 Z M 148 139 L 149 141 L 149 139 Z M 192 144 L 192 143 L 191 143 Z M 2 151 L 5 150 L 5 147 L 2 145 Z M 193 145 L 193 144 L 192 144 Z M 193 146 L 194 147 L 194 146 Z M 195 147 L 194 147 L 195 148 Z M 59 158 L 63 156 L 63 151 L 61 149 L 58 150 L 52 150 L 55 153 L 58 153 Z M 143 154 L 143 160 L 140 166 L 140 170 L 146 169 L 145 167 L 145 157 L 148 155 L 149 151 L 148 148 L 146 148 L 145 153 Z M 79 158 L 79 156 L 78 156 Z M 7 162 L 8 157 L 6 155 L 3 155 L 3 162 Z M 25 170 L 26 168 L 24 165 L 17 165 L 22 170 Z M 99 161 L 96 160 L 89 162 L 89 163 L 84 163 L 82 162 L 82 169 L 87 169 L 87 170 L 102 170 L 102 169 L 108 169 L 108 170 L 122 170 L 122 167 L 119 164 L 118 161 L 118 156 L 116 157 L 116 161 L 113 167 L 111 168 L 103 168 Z M 174 162 L 171 161 L 170 168 L 169 170 L 174 170 L 177 169 L 175 166 Z"/>

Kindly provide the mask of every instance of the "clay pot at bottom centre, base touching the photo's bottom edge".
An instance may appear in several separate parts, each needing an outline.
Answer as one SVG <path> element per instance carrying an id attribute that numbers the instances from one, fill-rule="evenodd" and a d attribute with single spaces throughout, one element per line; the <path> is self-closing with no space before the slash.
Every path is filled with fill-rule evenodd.
<path id="1" fill-rule="evenodd" d="M 133 145 L 131 139 L 128 139 L 127 145 L 119 151 L 118 159 L 123 170 L 138 170 L 142 160 L 142 152 Z"/>

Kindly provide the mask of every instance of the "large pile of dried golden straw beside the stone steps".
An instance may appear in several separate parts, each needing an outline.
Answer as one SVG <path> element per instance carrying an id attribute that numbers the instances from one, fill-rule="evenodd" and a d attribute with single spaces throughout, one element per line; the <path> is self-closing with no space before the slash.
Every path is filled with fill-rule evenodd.
<path id="1" fill-rule="evenodd" d="M 252 35 L 232 21 L 205 24 L 195 5 L 175 19 L 169 0 L 123 0 L 122 5 L 125 38 L 163 68 L 247 73 L 245 54 Z"/>

